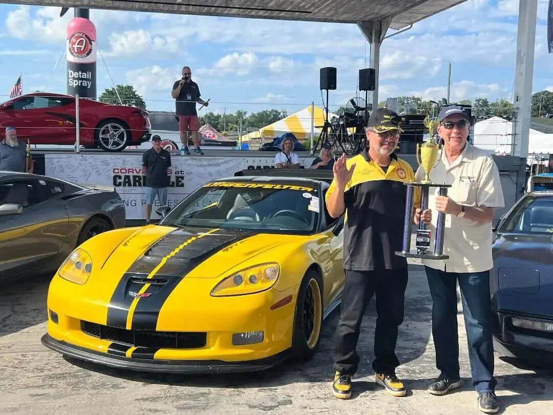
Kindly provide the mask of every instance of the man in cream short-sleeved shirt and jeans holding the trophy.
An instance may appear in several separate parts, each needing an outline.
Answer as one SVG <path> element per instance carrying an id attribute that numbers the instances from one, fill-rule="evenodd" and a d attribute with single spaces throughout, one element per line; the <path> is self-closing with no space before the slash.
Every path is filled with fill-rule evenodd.
<path id="1" fill-rule="evenodd" d="M 494 356 L 490 319 L 489 272 L 492 261 L 494 209 L 504 207 L 499 170 L 493 158 L 467 142 L 470 121 L 460 106 L 446 106 L 439 114 L 438 133 L 444 140 L 441 162 L 431 171 L 433 183 L 450 184 L 447 196 L 430 188 L 429 207 L 446 214 L 444 254 L 447 260 L 422 260 L 432 296 L 432 335 L 439 377 L 428 390 L 445 395 L 461 386 L 458 360 L 457 282 L 471 362 L 472 384 L 478 392 L 478 408 L 499 411 L 495 396 Z M 419 168 L 416 181 L 424 177 Z M 435 235 L 437 215 L 427 229 Z M 415 224 L 420 209 L 415 210 Z M 427 220 L 424 212 L 423 220 Z M 433 241 L 434 243 L 434 241 Z M 432 243 L 432 245 L 433 245 Z M 434 250 L 434 247 L 431 248 Z"/>

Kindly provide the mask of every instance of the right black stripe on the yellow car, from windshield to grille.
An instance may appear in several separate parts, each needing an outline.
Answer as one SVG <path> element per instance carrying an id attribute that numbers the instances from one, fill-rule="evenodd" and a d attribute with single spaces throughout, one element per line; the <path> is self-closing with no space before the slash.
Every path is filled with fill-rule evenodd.
<path id="1" fill-rule="evenodd" d="M 215 253 L 256 234 L 257 232 L 220 229 L 182 247 L 156 272 L 156 278 L 166 279 L 168 282 L 164 285 L 150 285 L 145 293 L 151 293 L 151 295 L 140 298 L 137 307 L 134 309 L 132 329 L 156 330 L 159 311 L 169 295 L 182 281 L 181 277 L 186 277 L 192 269 L 215 255 Z"/>

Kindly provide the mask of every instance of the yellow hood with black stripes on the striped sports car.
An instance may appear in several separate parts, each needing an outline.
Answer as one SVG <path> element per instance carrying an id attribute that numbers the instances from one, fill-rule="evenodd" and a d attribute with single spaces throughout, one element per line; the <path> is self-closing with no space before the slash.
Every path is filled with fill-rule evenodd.
<path id="1" fill-rule="evenodd" d="M 294 238 L 251 230 L 151 225 L 124 240 L 103 268 L 119 276 L 218 278 Z"/>

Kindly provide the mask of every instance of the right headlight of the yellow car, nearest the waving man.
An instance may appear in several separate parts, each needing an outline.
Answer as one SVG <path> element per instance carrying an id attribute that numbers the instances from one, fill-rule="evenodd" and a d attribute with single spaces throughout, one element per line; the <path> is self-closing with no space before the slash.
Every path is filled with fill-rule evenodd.
<path id="1" fill-rule="evenodd" d="M 273 287 L 280 274 L 276 263 L 242 269 L 223 279 L 211 290 L 214 297 L 259 293 Z"/>

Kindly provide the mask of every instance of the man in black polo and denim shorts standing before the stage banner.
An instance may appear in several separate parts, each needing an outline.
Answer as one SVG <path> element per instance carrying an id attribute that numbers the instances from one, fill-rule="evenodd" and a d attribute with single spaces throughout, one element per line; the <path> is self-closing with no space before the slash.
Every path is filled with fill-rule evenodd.
<path id="1" fill-rule="evenodd" d="M 161 148 L 161 137 L 152 137 L 152 148 L 142 154 L 142 174 L 146 175 L 146 225 L 150 223 L 155 196 L 160 206 L 167 204 L 169 167 L 171 154 Z"/>

